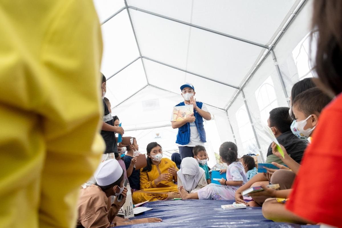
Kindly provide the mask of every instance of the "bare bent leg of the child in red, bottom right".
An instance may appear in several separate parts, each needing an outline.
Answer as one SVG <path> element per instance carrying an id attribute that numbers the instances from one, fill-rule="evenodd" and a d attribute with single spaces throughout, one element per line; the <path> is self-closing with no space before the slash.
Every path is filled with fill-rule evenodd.
<path id="1" fill-rule="evenodd" d="M 278 203 L 276 199 L 267 199 L 262 205 L 262 214 L 265 218 L 274 222 L 297 223 L 297 224 L 316 224 L 301 218 L 285 209 L 285 203 Z"/>

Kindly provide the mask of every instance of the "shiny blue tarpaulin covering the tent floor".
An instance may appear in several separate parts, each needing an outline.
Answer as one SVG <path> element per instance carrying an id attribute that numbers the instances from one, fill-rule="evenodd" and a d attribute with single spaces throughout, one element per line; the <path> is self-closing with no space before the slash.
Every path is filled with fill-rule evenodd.
<path id="1" fill-rule="evenodd" d="M 135 224 L 121 227 L 155 228 L 204 228 L 204 227 L 269 227 L 269 228 L 318 228 L 288 223 L 275 223 L 264 218 L 261 208 L 223 210 L 221 205 L 232 204 L 234 200 L 168 200 L 148 202 L 143 206 L 153 210 L 135 216 L 137 218 L 158 217 L 161 223 Z"/>

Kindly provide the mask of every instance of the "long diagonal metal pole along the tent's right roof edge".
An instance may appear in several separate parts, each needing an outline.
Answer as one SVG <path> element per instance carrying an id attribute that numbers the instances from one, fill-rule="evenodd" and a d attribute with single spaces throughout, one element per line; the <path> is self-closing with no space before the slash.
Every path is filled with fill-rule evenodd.
<path id="1" fill-rule="evenodd" d="M 308 0 L 303 0 L 302 2 L 300 2 L 298 4 L 298 6 L 296 7 L 297 9 L 294 10 L 294 12 L 291 12 L 287 22 L 285 23 L 285 25 L 283 26 L 283 28 L 278 32 L 277 36 L 275 37 L 275 39 L 273 40 L 273 42 L 271 42 L 271 47 L 267 49 L 266 53 L 264 55 L 262 55 L 261 57 L 259 57 L 259 61 L 258 61 L 258 66 L 260 66 L 264 60 L 267 58 L 267 56 L 269 55 L 269 53 L 271 53 L 271 51 L 274 49 L 275 44 L 281 39 L 281 37 L 284 35 L 284 33 L 286 32 L 286 30 L 289 28 L 289 26 L 291 25 L 291 23 L 294 21 L 294 19 L 296 18 L 296 16 L 298 15 L 298 13 L 302 10 L 303 6 L 305 5 L 305 3 Z M 252 70 L 250 70 L 250 73 L 248 73 L 248 77 L 245 80 L 244 83 L 242 83 L 241 85 L 241 89 L 239 89 L 239 91 L 237 91 L 235 93 L 235 95 L 233 96 L 233 99 L 229 102 L 227 108 L 225 108 L 225 110 L 228 110 L 229 107 L 232 106 L 232 104 L 234 103 L 235 99 L 237 98 L 237 96 L 239 95 L 239 93 L 241 92 L 241 90 L 245 87 L 245 85 L 247 84 L 248 80 L 254 75 L 254 73 L 258 70 L 259 67 L 254 66 L 254 68 L 252 68 Z"/>

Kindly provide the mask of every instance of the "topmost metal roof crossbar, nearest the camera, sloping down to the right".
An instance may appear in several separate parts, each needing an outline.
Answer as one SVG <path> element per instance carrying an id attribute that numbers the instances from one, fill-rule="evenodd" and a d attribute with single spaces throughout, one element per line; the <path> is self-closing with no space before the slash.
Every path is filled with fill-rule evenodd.
<path id="1" fill-rule="evenodd" d="M 261 43 L 253 42 L 253 41 L 246 40 L 246 39 L 243 39 L 243 38 L 240 38 L 240 37 L 232 36 L 232 35 L 229 35 L 229 34 L 226 34 L 226 33 L 223 33 L 223 32 L 219 32 L 219 31 L 215 31 L 213 29 L 205 28 L 205 27 L 202 27 L 202 26 L 199 26 L 199 25 L 194 25 L 194 24 L 191 24 L 191 23 L 188 23 L 188 22 L 184 22 L 184 21 L 172 18 L 172 17 L 167 17 L 167 16 L 164 16 L 164 15 L 161 15 L 161 14 L 157 14 L 157 13 L 154 13 L 154 12 L 143 10 L 143 9 L 137 8 L 135 6 L 128 5 L 127 8 L 132 9 L 132 10 L 136 10 L 136 11 L 140 11 L 140 12 L 143 12 L 143 13 L 147 13 L 147 14 L 150 14 L 150 15 L 153 15 L 153 16 L 161 17 L 161 18 L 173 21 L 173 22 L 177 22 L 177 23 L 183 24 L 183 25 L 188 25 L 188 26 L 191 26 L 191 27 L 194 27 L 194 28 L 198 28 L 198 29 L 201 29 L 201 30 L 212 32 L 212 33 L 215 33 L 217 35 L 228 37 L 228 38 L 231 38 L 231 39 L 234 39 L 234 40 L 239 40 L 239 41 L 242 41 L 242 42 L 245 42 L 245 43 L 249 43 L 249 44 L 252 44 L 252 45 L 255 45 L 255 46 L 259 46 L 261 48 L 269 49 L 269 46 L 267 46 L 265 44 L 261 44 Z"/>

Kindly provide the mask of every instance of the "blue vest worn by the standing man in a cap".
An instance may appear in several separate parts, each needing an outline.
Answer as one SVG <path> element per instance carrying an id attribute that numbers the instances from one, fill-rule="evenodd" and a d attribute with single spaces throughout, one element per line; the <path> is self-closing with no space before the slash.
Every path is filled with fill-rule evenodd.
<path id="1" fill-rule="evenodd" d="M 176 106 L 183 106 L 183 105 L 185 105 L 184 102 L 181 102 Z M 201 109 L 203 103 L 197 101 L 196 105 L 197 107 Z M 197 111 L 194 112 L 194 117 L 196 117 L 195 124 L 199 133 L 199 138 L 201 139 L 203 143 L 205 143 L 207 141 L 206 141 L 206 131 L 204 130 L 204 126 L 203 126 L 203 118 L 201 117 L 201 115 L 199 115 Z M 180 145 L 186 145 L 190 143 L 190 123 L 186 123 L 178 129 L 176 143 Z"/>

